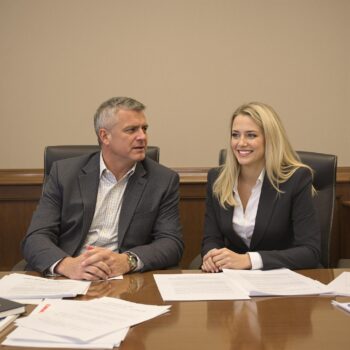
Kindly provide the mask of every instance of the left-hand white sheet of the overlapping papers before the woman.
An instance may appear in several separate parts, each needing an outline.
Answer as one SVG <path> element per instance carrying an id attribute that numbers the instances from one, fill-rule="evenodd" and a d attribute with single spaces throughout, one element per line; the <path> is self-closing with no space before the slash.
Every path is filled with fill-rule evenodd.
<path id="1" fill-rule="evenodd" d="M 224 274 L 154 274 L 163 300 L 246 300 L 248 293 Z"/>

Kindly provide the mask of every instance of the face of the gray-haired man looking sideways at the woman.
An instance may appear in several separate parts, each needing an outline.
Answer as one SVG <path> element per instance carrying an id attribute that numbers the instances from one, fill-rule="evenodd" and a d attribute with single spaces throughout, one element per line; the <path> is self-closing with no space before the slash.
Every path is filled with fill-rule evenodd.
<path id="1" fill-rule="evenodd" d="M 141 161 L 146 156 L 147 128 L 143 112 L 121 109 L 111 128 L 100 129 L 103 147 L 123 163 Z"/>

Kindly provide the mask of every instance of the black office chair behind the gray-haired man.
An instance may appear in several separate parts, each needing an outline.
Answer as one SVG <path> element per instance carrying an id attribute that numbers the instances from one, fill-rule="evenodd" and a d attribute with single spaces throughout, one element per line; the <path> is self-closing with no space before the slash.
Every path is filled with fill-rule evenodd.
<path id="1" fill-rule="evenodd" d="M 43 188 L 45 187 L 46 180 L 50 174 L 52 164 L 61 159 L 73 158 L 97 152 L 100 150 L 98 145 L 64 145 L 64 146 L 46 146 L 44 150 L 44 181 Z M 146 150 L 147 157 L 153 159 L 159 163 L 160 149 L 157 146 L 148 146 Z M 12 271 L 23 271 L 26 266 L 25 260 L 19 261 Z"/>

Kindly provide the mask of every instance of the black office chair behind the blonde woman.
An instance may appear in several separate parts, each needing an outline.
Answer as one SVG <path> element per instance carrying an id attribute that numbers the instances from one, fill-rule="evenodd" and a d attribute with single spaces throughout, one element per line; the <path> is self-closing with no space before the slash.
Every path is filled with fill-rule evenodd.
<path id="1" fill-rule="evenodd" d="M 337 156 L 315 152 L 297 151 L 300 160 L 314 170 L 313 186 L 317 191 L 314 197 L 321 227 L 321 263 L 325 268 L 330 267 L 330 244 L 335 205 L 335 184 Z M 219 165 L 226 160 L 226 149 L 220 150 Z M 350 263 L 350 261 L 349 261 Z M 198 256 L 190 266 L 201 265 Z"/>

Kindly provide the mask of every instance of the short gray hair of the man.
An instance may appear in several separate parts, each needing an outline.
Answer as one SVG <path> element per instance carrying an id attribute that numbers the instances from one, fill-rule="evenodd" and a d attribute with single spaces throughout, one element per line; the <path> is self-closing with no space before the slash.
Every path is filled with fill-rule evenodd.
<path id="1" fill-rule="evenodd" d="M 98 132 L 101 128 L 110 128 L 115 122 L 114 116 L 120 109 L 141 112 L 146 108 L 141 102 L 130 97 L 112 97 L 103 102 L 94 115 L 94 126 L 97 138 L 100 142 Z"/>

